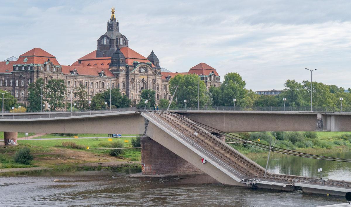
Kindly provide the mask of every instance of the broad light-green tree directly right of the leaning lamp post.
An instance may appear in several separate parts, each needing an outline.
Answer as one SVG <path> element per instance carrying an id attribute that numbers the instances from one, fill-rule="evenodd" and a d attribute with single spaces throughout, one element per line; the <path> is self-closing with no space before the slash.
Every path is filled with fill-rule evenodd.
<path id="1" fill-rule="evenodd" d="M 186 100 L 186 106 L 198 106 L 198 81 L 199 76 L 196 74 L 177 74 L 170 80 L 170 88 L 179 86 L 177 89 L 177 99 L 180 106 L 184 106 L 184 101 Z M 208 105 L 210 94 L 206 93 L 206 85 L 204 81 L 200 81 L 200 106 Z M 173 94 L 175 88 L 170 90 Z"/>

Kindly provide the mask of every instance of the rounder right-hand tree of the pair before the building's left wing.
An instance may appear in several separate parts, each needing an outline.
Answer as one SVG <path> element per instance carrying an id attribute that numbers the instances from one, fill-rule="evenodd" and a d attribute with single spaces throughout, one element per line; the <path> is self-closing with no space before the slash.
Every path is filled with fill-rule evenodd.
<path id="1" fill-rule="evenodd" d="M 46 84 L 45 101 L 51 105 L 51 110 L 63 107 L 65 99 L 66 85 L 61 79 L 51 79 Z"/>

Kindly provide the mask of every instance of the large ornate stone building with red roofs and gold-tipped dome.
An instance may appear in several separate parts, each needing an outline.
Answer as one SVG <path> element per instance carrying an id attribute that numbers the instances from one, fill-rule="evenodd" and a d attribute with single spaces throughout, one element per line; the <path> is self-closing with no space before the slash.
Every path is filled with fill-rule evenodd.
<path id="1" fill-rule="evenodd" d="M 60 65 L 55 56 L 40 48 L 33 48 L 17 60 L 11 60 L 0 62 L 0 90 L 10 91 L 24 105 L 28 104 L 28 85 L 38 78 L 43 78 L 45 83 L 50 79 L 62 79 L 69 90 L 84 85 L 89 99 L 117 87 L 132 100 L 133 105 L 140 101 L 143 89 L 155 90 L 156 100 L 170 99 L 168 82 L 176 74 L 196 73 L 207 88 L 221 83 L 216 69 L 205 63 L 199 63 L 187 73 L 161 72 L 160 61 L 152 50 L 146 58 L 129 48 L 127 37 L 119 32 L 114 8 L 106 33 L 97 40 L 97 50 L 79 58 L 71 66 Z M 66 101 L 70 101 L 70 94 L 67 91 Z"/>

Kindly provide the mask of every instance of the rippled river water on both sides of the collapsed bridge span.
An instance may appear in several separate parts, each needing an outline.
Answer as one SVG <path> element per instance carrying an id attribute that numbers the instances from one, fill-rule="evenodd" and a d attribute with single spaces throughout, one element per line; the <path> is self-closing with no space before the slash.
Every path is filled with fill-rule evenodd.
<path id="1" fill-rule="evenodd" d="M 338 154 L 334 154 L 338 155 Z M 349 157 L 350 153 L 339 154 Z M 255 160 L 265 167 L 266 159 Z M 276 173 L 351 180 L 347 163 L 284 157 L 270 160 Z M 317 171 L 317 172 L 316 172 Z M 130 178 L 140 169 L 42 172 L 0 176 L 0 206 L 320 206 L 343 197 L 254 190 L 221 184 L 179 184 L 182 177 Z M 59 179 L 60 181 L 54 181 Z"/>

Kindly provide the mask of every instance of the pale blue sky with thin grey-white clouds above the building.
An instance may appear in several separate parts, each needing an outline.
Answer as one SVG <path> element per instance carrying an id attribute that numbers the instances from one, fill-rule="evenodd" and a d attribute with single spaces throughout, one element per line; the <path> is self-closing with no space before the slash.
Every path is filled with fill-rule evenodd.
<path id="1" fill-rule="evenodd" d="M 0 61 L 42 48 L 72 64 L 96 50 L 112 6 L 129 47 L 172 72 L 204 62 L 257 91 L 310 80 L 308 68 L 313 81 L 351 87 L 349 0 L 0 0 Z"/>

